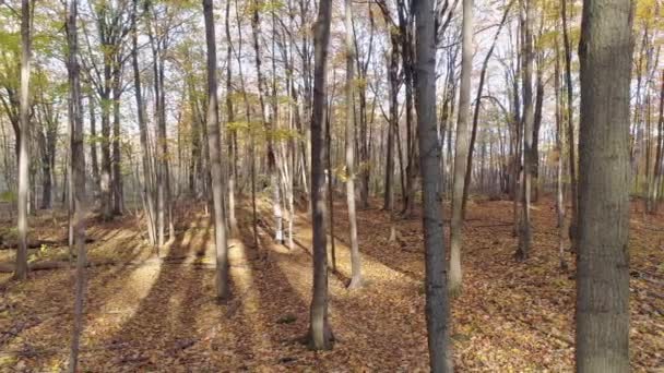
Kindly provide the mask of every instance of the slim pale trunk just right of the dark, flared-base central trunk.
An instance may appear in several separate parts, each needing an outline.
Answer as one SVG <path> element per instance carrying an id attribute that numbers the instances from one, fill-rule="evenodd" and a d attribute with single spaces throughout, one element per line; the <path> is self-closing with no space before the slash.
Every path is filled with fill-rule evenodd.
<path id="1" fill-rule="evenodd" d="M 348 204 L 348 224 L 351 225 L 351 262 L 352 278 L 348 288 L 361 286 L 361 260 L 357 246 L 357 217 L 355 212 L 355 117 L 354 117 L 354 67 L 355 46 L 353 45 L 353 4 L 351 0 L 344 1 L 346 26 L 346 203 Z M 332 193 L 332 191 L 330 191 Z"/>

